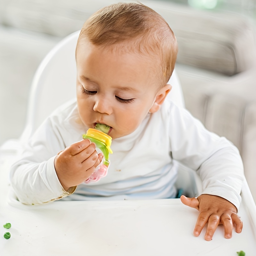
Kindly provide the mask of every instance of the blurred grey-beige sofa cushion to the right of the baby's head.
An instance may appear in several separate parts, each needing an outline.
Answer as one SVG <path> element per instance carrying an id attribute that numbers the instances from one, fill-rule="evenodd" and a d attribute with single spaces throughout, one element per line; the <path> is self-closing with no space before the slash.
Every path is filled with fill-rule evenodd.
<path id="1" fill-rule="evenodd" d="M 256 59 L 254 27 L 245 17 L 171 4 L 157 9 L 176 35 L 178 63 L 232 76 Z"/>

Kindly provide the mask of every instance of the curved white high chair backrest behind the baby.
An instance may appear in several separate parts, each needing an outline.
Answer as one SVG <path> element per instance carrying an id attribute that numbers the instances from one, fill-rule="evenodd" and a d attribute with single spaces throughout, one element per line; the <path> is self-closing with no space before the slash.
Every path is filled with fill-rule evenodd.
<path id="1" fill-rule="evenodd" d="M 80 31 L 60 41 L 39 65 L 31 85 L 25 130 L 21 140 L 27 140 L 36 128 L 61 104 L 76 97 L 76 42 Z M 170 79 L 168 95 L 184 107 L 183 94 L 176 72 Z"/>

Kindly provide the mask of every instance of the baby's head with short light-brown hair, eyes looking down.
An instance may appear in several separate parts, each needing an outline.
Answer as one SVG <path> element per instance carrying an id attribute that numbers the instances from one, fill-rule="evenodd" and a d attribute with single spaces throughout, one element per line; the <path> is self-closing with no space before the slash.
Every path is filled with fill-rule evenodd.
<path id="1" fill-rule="evenodd" d="M 88 128 L 112 127 L 115 139 L 156 112 L 171 90 L 177 56 L 166 21 L 142 4 L 113 4 L 85 23 L 76 48 L 77 104 Z"/>

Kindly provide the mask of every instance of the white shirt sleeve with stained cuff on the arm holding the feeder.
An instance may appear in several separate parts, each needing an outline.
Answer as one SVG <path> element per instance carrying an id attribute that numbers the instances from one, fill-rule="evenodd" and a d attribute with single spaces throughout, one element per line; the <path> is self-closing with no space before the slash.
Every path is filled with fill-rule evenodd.
<path id="1" fill-rule="evenodd" d="M 21 203 L 48 203 L 75 191 L 76 187 L 65 191 L 55 172 L 55 156 L 64 148 L 53 118 L 47 118 L 24 145 L 20 159 L 10 170 L 11 184 Z"/>

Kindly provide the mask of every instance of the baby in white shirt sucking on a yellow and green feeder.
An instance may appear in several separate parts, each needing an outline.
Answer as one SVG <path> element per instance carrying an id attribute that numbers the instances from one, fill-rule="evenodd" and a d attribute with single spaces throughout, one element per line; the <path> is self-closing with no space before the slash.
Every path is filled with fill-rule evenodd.
<path id="1" fill-rule="evenodd" d="M 114 4 L 93 14 L 76 47 L 76 100 L 44 121 L 12 166 L 20 202 L 175 198 L 181 163 L 203 182 L 202 195 L 181 196 L 199 210 L 194 235 L 207 222 L 205 240 L 219 224 L 226 238 L 233 224 L 240 233 L 237 148 L 166 99 L 177 51 L 171 28 L 147 6 Z M 107 176 L 86 184 L 103 155 L 82 134 L 97 124 L 110 127 L 114 153 Z"/>

